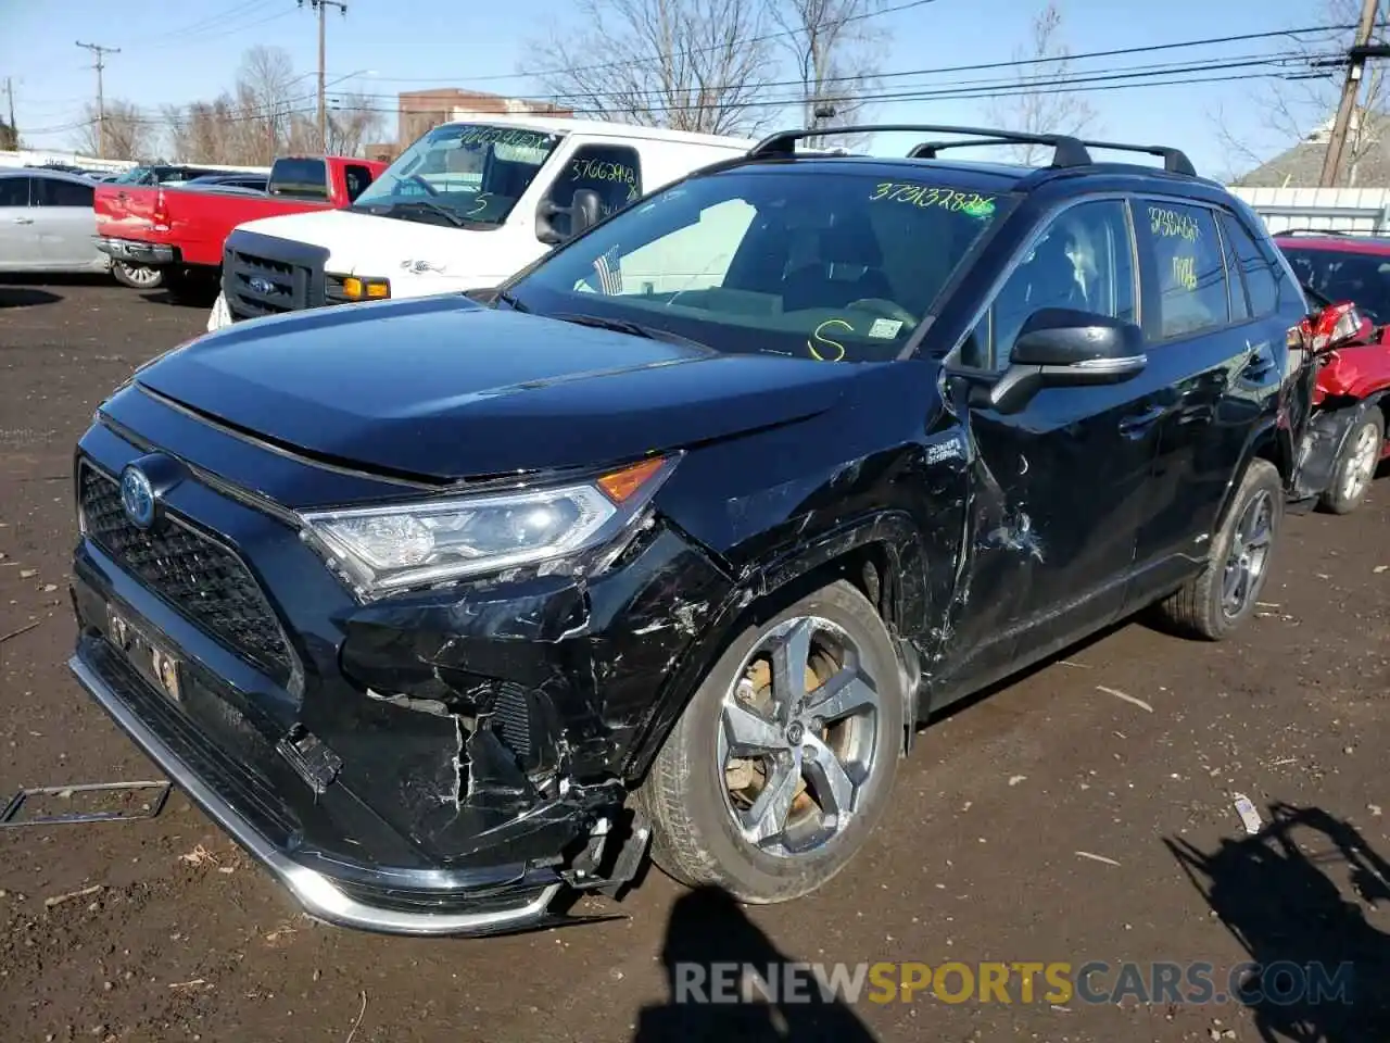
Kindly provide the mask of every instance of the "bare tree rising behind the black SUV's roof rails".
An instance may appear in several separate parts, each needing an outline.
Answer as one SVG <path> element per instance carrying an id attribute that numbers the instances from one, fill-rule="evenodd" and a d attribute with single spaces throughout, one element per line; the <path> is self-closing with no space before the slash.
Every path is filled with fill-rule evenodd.
<path id="1" fill-rule="evenodd" d="M 1015 83 L 994 97 L 990 118 L 1024 134 L 1081 134 L 1095 122 L 1086 99 L 1063 90 L 1072 72 L 1070 49 L 1062 42 L 1062 11 L 1055 0 L 1038 13 L 1029 43 L 1013 51 L 1019 67 Z M 1011 146 L 1019 163 L 1031 164 L 1047 152 L 1042 145 Z"/>

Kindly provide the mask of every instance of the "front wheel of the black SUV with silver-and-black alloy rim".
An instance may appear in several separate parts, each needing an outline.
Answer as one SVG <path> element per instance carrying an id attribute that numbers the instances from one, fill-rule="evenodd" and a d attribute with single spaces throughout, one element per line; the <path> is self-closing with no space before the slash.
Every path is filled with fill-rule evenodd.
<path id="1" fill-rule="evenodd" d="M 638 791 L 652 855 L 689 884 L 777 903 L 838 873 L 873 830 L 903 748 L 898 654 L 833 583 L 739 634 Z"/>

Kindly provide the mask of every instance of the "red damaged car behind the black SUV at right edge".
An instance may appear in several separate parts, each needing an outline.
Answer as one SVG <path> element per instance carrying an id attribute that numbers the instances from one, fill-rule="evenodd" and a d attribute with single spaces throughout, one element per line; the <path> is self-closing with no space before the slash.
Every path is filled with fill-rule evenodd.
<path id="1" fill-rule="evenodd" d="M 1390 458 L 1390 238 L 1284 234 L 1275 242 L 1322 309 L 1308 330 L 1319 370 L 1300 491 L 1346 515 Z"/>

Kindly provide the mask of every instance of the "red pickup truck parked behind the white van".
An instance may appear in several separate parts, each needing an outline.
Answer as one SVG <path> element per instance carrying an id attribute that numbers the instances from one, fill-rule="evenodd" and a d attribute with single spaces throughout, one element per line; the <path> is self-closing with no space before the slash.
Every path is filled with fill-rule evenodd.
<path id="1" fill-rule="evenodd" d="M 345 156 L 284 156 L 264 192 L 243 188 L 104 184 L 96 189 L 96 246 L 111 257 L 117 281 L 177 293 L 189 281 L 211 282 L 232 228 L 261 217 L 345 207 L 384 163 Z"/>

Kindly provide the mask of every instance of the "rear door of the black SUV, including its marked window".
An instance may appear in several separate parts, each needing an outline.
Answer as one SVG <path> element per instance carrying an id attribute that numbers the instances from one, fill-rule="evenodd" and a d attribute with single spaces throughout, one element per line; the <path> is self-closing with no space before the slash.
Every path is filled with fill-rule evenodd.
<path id="1" fill-rule="evenodd" d="M 1229 213 L 1147 197 L 1136 218 L 1148 364 L 1166 384 L 1131 592 L 1141 602 L 1207 556 L 1230 481 L 1284 377 L 1287 324 L 1270 320 L 1273 285 L 1252 273 L 1255 293 L 1247 291 L 1236 243 L 1227 246 L 1241 225 Z"/>

